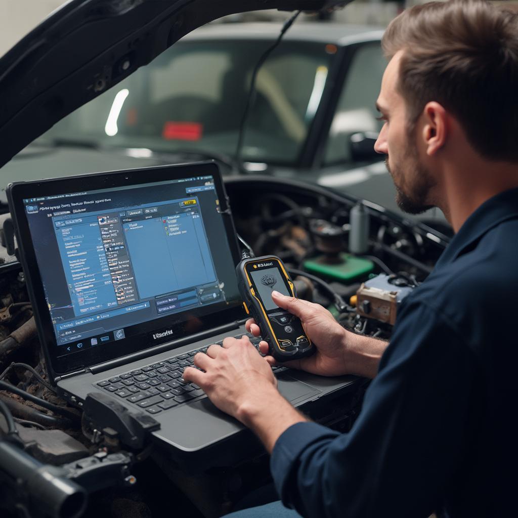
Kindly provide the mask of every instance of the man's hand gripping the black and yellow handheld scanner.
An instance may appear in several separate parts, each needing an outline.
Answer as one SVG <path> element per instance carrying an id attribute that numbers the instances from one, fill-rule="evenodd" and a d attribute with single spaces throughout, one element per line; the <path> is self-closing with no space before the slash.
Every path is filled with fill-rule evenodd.
<path id="1" fill-rule="evenodd" d="M 273 291 L 271 297 L 277 306 L 298 316 L 308 338 L 316 347 L 316 353 L 312 356 L 283 362 L 280 365 L 321 376 L 376 376 L 379 359 L 387 346 L 386 342 L 347 331 L 319 304 L 286 297 L 277 291 Z M 253 319 L 247 321 L 246 327 L 254 336 L 260 336 L 259 327 Z M 260 349 L 263 354 L 268 354 L 266 342 L 260 343 Z M 276 364 L 272 356 L 266 356 L 266 359 L 271 365 Z"/>

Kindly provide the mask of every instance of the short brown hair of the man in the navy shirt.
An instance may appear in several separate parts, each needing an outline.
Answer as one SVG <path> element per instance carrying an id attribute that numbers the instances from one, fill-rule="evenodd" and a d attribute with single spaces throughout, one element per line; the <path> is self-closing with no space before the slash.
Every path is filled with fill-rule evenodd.
<path id="1" fill-rule="evenodd" d="M 486 159 L 518 162 L 518 13 L 484 0 L 416 5 L 382 45 L 388 59 L 404 51 L 398 89 L 411 127 L 435 100 Z"/>

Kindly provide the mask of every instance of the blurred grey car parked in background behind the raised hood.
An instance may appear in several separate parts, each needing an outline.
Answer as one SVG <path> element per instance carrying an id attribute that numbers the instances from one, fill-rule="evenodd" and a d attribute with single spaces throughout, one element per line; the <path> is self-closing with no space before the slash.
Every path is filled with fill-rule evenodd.
<path id="1" fill-rule="evenodd" d="M 258 72 L 241 130 L 252 70 L 281 27 L 197 28 L 55 124 L 3 168 L 3 177 L 214 157 L 227 174 L 312 181 L 399 211 L 391 177 L 373 150 L 381 127 L 374 100 L 386 65 L 381 29 L 295 23 Z M 437 210 L 421 219 L 444 231 Z"/>

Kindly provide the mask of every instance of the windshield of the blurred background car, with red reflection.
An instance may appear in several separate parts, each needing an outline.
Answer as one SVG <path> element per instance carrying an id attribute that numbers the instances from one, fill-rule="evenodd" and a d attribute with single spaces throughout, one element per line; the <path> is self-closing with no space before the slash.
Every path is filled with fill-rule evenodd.
<path id="1" fill-rule="evenodd" d="M 272 41 L 180 41 L 42 138 L 56 145 L 234 156 L 252 71 Z M 243 160 L 297 161 L 333 57 L 328 48 L 283 41 L 268 57 L 257 75 Z"/>

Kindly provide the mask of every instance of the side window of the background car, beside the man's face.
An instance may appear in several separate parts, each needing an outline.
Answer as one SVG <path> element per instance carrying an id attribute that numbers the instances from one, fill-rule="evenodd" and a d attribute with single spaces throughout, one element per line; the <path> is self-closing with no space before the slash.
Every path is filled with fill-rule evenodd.
<path id="1" fill-rule="evenodd" d="M 376 99 L 386 64 L 379 43 L 365 44 L 355 51 L 329 128 L 326 164 L 351 160 L 348 142 L 352 134 L 381 130 Z"/>

